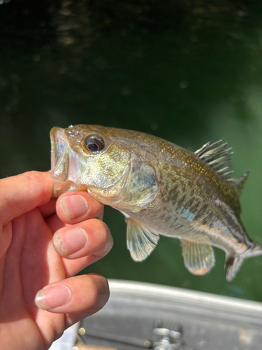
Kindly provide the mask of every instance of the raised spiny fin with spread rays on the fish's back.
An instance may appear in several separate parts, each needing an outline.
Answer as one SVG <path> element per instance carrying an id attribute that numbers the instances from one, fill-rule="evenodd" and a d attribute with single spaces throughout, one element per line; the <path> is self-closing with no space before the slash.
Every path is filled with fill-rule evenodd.
<path id="1" fill-rule="evenodd" d="M 198 151 L 195 152 L 201 160 L 206 162 L 212 169 L 214 169 L 217 174 L 221 175 L 224 179 L 229 179 L 233 171 L 228 170 L 232 167 L 231 163 L 231 155 L 233 152 L 232 148 L 225 148 L 227 144 L 220 144 L 222 140 L 214 142 L 214 144 L 210 145 L 205 144 Z"/>

